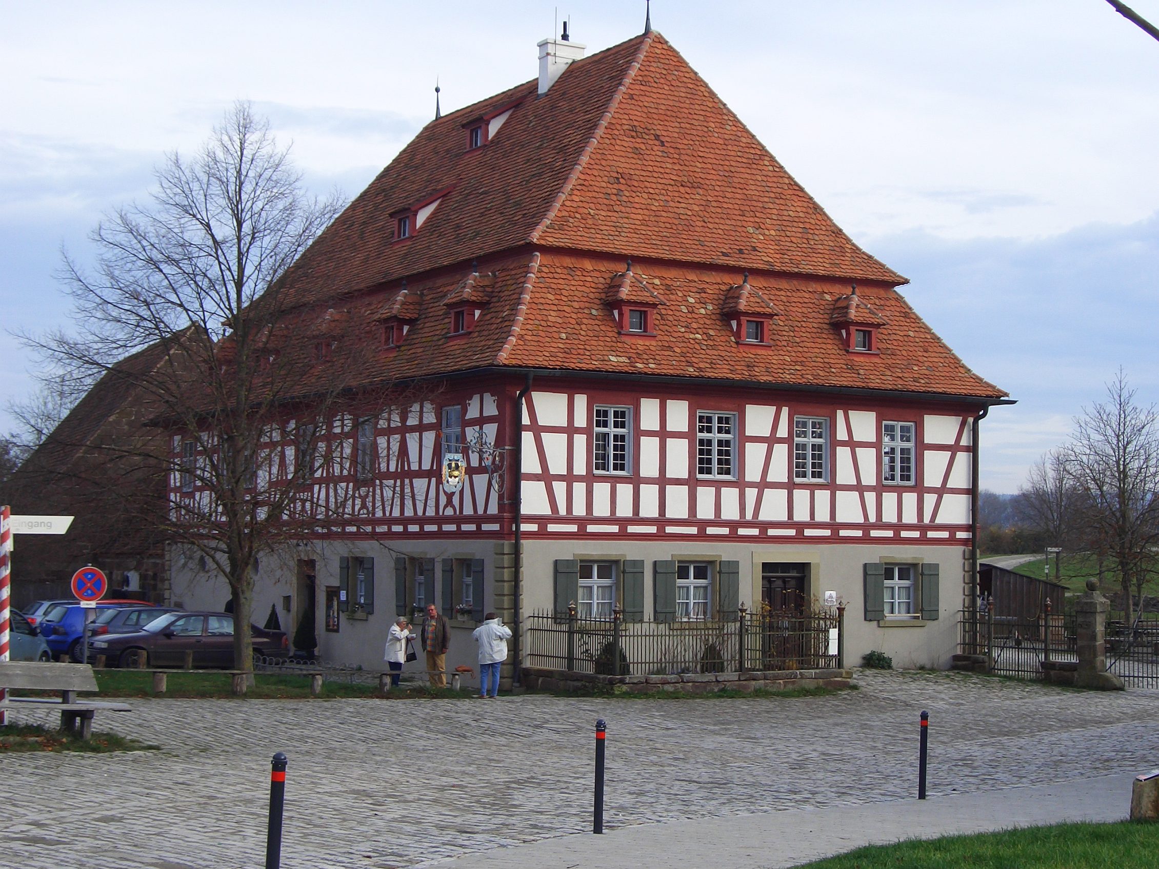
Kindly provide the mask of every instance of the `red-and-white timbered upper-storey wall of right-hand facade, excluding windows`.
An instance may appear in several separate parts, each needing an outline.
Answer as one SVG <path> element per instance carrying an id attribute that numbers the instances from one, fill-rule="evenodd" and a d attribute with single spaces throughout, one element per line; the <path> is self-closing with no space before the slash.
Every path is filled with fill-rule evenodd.
<path id="1" fill-rule="evenodd" d="M 969 545 L 977 408 L 690 387 L 537 381 L 524 411 L 525 535 Z M 628 410 L 624 473 L 593 470 L 597 407 Z M 731 477 L 698 475 L 698 412 L 735 419 Z M 824 482 L 794 479 L 796 417 L 826 421 Z M 913 425 L 912 484 L 882 481 L 884 422 Z"/>

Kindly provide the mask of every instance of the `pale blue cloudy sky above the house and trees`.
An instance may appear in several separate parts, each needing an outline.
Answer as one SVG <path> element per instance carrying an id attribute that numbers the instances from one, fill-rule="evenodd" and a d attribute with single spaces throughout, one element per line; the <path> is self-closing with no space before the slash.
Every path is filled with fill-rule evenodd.
<path id="1" fill-rule="evenodd" d="M 89 257 L 102 212 L 235 100 L 353 196 L 431 118 L 436 76 L 444 109 L 534 78 L 556 14 L 591 53 L 644 3 L 0 0 L 0 320 L 67 322 L 61 248 Z M 984 423 L 984 487 L 1016 490 L 1121 365 L 1159 400 L 1159 42 L 1105 0 L 655 0 L 653 23 L 1019 400 Z M 0 352 L 20 400 L 35 360 Z"/>

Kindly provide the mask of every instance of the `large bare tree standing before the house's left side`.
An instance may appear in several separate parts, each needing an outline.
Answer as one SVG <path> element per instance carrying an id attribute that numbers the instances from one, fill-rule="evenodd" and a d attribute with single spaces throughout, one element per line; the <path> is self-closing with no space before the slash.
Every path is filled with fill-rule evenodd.
<path id="1" fill-rule="evenodd" d="M 393 403 L 389 385 L 351 392 L 358 353 L 377 346 L 370 317 L 330 287 L 312 287 L 330 301 L 311 305 L 285 280 L 340 209 L 302 193 L 287 152 L 239 103 L 192 160 L 167 158 L 146 204 L 100 224 L 92 273 L 65 261 L 83 334 L 25 336 L 68 382 L 131 381 L 147 424 L 87 448 L 130 495 L 153 494 L 138 502 L 143 521 L 228 580 L 240 669 L 253 662 L 255 556 L 341 511 L 306 483 L 338 460 L 335 436 L 358 408 Z M 147 364 L 117 364 L 134 352 Z"/>

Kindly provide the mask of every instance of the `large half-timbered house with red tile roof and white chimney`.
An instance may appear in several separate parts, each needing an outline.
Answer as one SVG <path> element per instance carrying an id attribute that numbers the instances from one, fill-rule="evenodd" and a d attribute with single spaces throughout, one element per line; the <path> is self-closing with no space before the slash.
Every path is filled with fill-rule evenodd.
<path id="1" fill-rule="evenodd" d="M 539 50 L 538 79 L 429 123 L 287 276 L 291 307 L 366 327 L 365 382 L 431 389 L 287 421 L 327 426 L 313 497 L 347 514 L 262 556 L 254 611 L 316 613 L 322 657 L 373 666 L 435 603 L 453 665 L 486 611 L 828 598 L 850 662 L 947 665 L 1005 393 L 658 32 Z M 264 473 L 299 453 L 271 441 Z M 228 597 L 195 555 L 172 569 L 181 603 Z"/>

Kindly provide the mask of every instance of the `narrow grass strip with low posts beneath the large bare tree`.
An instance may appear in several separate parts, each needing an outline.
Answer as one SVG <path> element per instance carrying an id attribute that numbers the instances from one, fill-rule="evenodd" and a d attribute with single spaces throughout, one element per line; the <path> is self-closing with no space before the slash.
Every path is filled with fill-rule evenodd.
<path id="1" fill-rule="evenodd" d="M 96 670 L 96 684 L 100 686 L 100 698 L 147 698 L 153 696 L 153 677 L 150 673 L 137 673 L 131 670 Z M 233 695 L 233 679 L 228 673 L 183 673 L 174 670 L 169 673 L 166 685 L 166 698 L 207 698 L 221 700 L 243 700 Z M 473 689 L 431 691 L 425 686 L 400 687 L 386 694 L 379 692 L 377 685 L 323 681 L 320 699 L 337 698 L 374 698 L 378 700 L 404 700 L 409 698 L 469 698 Z M 247 698 L 257 700 L 304 699 L 309 700 L 309 678 L 304 676 L 279 676 L 274 673 L 256 673 L 254 686 L 247 692 Z"/>

